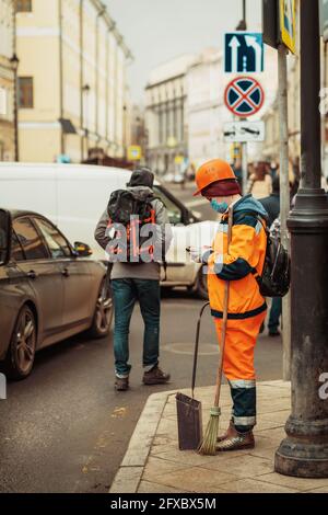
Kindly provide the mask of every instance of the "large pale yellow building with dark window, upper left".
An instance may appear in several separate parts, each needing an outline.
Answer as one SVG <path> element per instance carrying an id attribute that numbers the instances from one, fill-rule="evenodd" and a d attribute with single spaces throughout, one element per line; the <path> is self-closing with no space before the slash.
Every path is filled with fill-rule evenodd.
<path id="1" fill-rule="evenodd" d="M 99 0 L 17 2 L 20 157 L 80 162 L 125 157 L 131 54 Z"/>

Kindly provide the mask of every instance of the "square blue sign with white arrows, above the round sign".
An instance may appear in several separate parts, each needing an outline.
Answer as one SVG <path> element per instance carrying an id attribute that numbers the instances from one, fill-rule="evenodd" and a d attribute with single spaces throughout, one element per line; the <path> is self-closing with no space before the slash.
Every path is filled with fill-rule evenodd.
<path id="1" fill-rule="evenodd" d="M 263 71 L 262 35 L 253 32 L 232 32 L 224 36 L 224 69 L 226 73 Z"/>

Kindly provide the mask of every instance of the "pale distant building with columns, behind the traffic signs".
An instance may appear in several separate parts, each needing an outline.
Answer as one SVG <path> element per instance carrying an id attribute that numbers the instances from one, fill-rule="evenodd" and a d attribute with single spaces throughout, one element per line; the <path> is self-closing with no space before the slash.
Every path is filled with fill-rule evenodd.
<path id="1" fill-rule="evenodd" d="M 266 53 L 265 72 L 253 76 L 261 82 L 266 98 L 261 112 L 251 117 L 256 121 L 272 106 L 277 93 L 273 49 Z M 218 48 L 174 59 L 153 70 L 145 89 L 145 124 L 148 162 L 157 173 L 175 173 L 177 162 L 181 163 L 180 171 L 186 171 L 186 163 L 197 169 L 215 157 L 232 162 L 241 159 L 241 145 L 224 140 L 225 123 L 234 121 L 225 106 L 224 91 L 234 77 L 224 72 Z M 261 144 L 247 144 L 249 160 L 259 160 L 261 152 Z"/>

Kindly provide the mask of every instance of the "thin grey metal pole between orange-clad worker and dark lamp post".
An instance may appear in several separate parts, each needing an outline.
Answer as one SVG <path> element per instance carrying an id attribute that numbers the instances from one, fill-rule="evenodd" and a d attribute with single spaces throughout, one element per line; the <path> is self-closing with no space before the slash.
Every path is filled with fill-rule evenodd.
<path id="1" fill-rule="evenodd" d="M 290 250 L 286 220 L 290 213 L 288 67 L 284 45 L 278 48 L 279 127 L 280 127 L 280 229 L 281 242 Z M 283 380 L 291 379 L 291 299 L 282 299 Z"/>

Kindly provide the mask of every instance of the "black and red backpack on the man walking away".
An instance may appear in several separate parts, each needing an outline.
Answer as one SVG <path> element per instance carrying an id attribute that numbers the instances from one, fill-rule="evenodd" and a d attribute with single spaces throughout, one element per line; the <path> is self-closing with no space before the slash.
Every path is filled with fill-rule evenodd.
<path id="1" fill-rule="evenodd" d="M 128 263 L 140 263 L 143 262 L 140 259 L 141 254 L 149 254 L 147 262 L 154 261 L 154 248 L 153 245 L 144 245 L 144 243 L 151 238 L 140 236 L 142 227 L 147 224 L 155 225 L 155 209 L 152 205 L 155 196 L 150 193 L 147 197 L 141 196 L 138 192 L 131 192 L 129 190 L 117 190 L 112 193 L 107 213 L 109 216 L 108 227 L 113 227 L 116 230 L 115 239 L 118 241 L 121 237 L 119 226 L 124 226 L 126 229 L 126 238 L 121 239 L 119 245 L 109 245 L 109 251 L 113 254 L 119 254 L 124 251 L 124 255 Z"/>

